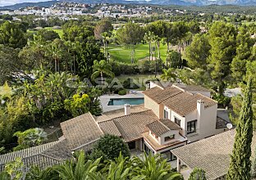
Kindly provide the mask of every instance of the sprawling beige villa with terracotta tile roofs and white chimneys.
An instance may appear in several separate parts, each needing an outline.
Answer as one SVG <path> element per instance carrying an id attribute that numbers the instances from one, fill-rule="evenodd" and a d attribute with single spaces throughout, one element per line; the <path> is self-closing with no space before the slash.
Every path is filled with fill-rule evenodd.
<path id="1" fill-rule="evenodd" d="M 60 163 L 71 158 L 73 151 L 91 151 L 103 134 L 121 137 L 130 150 L 151 151 L 172 161 L 176 154 L 171 150 L 223 133 L 228 123 L 208 89 L 151 82 L 144 91 L 144 105 L 126 104 L 100 116 L 87 113 L 69 119 L 61 124 L 63 137 L 59 141 L 0 155 L 0 171 L 16 157 L 26 166 Z"/>

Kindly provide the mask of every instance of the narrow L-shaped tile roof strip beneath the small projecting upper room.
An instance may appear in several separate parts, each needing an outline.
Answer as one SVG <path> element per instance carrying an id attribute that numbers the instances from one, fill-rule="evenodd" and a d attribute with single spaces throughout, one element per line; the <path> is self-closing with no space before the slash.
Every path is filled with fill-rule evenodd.
<path id="1" fill-rule="evenodd" d="M 149 132 L 143 133 L 142 136 L 144 137 L 144 141 L 148 142 L 149 145 L 152 146 L 155 151 L 160 151 L 160 150 L 165 149 L 167 147 L 175 146 L 175 145 L 178 145 L 178 144 L 181 144 L 181 143 L 185 143 L 186 144 L 186 142 L 187 142 L 187 140 L 184 138 L 184 141 L 176 139 L 176 140 L 171 141 L 171 142 L 169 142 L 167 144 L 160 145 L 160 144 L 158 144 L 158 142 L 156 142 L 153 139 L 153 137 L 150 137 Z"/>

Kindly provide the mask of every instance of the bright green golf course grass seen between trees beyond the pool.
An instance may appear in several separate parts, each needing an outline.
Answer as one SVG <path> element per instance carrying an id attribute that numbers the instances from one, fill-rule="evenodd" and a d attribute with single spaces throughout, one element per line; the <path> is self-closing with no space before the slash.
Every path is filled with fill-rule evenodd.
<path id="1" fill-rule="evenodd" d="M 110 56 L 115 61 L 121 61 L 130 63 L 130 49 L 122 47 L 120 45 L 109 44 L 108 52 Z M 167 56 L 167 45 L 160 46 L 161 58 L 163 61 L 166 60 Z M 149 44 L 139 44 L 135 47 L 135 62 L 138 62 L 141 59 L 149 57 Z"/>

